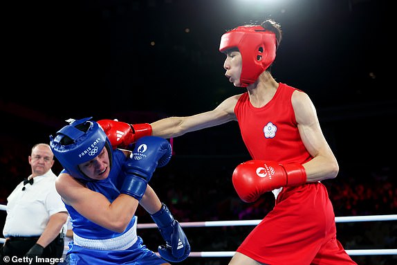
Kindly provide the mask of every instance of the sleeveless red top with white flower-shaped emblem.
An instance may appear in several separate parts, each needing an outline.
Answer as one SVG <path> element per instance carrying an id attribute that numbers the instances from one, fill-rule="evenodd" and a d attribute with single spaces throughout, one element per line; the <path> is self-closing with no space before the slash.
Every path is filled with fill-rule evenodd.
<path id="1" fill-rule="evenodd" d="M 241 136 L 255 160 L 278 163 L 306 163 L 313 158 L 299 136 L 291 102 L 295 90 L 279 83 L 272 100 L 264 107 L 250 103 L 248 92 L 243 93 L 234 107 Z"/>

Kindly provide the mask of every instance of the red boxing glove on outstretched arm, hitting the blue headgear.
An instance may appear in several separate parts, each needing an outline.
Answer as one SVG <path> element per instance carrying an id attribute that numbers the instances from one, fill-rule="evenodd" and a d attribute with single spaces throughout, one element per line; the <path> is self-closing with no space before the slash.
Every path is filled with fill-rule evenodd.
<path id="1" fill-rule="evenodd" d="M 151 136 L 151 125 L 140 123 L 129 125 L 117 120 L 98 120 L 98 124 L 109 138 L 113 149 L 127 148 L 143 136 Z"/>

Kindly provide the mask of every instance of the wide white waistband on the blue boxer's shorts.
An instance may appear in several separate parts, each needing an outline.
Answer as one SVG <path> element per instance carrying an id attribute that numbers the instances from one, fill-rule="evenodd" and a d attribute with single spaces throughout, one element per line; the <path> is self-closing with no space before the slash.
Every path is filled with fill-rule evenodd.
<path id="1" fill-rule="evenodd" d="M 98 250 L 126 250 L 135 244 L 138 239 L 136 235 L 136 221 L 133 226 L 124 234 L 109 239 L 88 239 L 73 235 L 74 244 Z"/>

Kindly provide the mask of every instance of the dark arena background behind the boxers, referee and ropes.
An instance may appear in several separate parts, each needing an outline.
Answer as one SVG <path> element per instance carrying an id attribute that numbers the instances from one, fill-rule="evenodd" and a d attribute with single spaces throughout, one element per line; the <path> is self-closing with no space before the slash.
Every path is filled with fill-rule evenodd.
<path id="1" fill-rule="evenodd" d="M 323 181 L 336 217 L 397 214 L 396 54 L 386 0 L 101 0 L 1 3 L 0 203 L 30 174 L 35 143 L 68 118 L 154 122 L 214 109 L 244 90 L 225 78 L 226 30 L 273 18 L 283 40 L 278 82 L 311 96 L 340 163 Z M 393 77 L 394 76 L 394 77 Z M 392 78 L 393 77 L 393 78 Z M 271 192 L 243 203 L 231 176 L 250 156 L 237 122 L 173 139 L 174 156 L 150 184 L 180 222 L 262 219 Z M 53 171 L 62 167 L 56 161 Z M 152 220 L 138 208 L 138 223 Z M 6 212 L 0 211 L 0 228 Z M 192 252 L 234 251 L 254 226 L 185 228 Z M 337 223 L 346 250 L 396 249 L 396 221 Z M 157 250 L 156 229 L 139 229 Z M 1 235 L 2 237 L 3 235 Z M 396 265 L 397 255 L 352 255 Z M 179 264 L 228 264 L 188 257 Z"/>

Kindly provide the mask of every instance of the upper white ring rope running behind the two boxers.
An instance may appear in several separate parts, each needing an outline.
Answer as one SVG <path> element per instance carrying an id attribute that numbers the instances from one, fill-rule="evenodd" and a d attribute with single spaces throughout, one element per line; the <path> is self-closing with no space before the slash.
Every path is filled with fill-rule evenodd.
<path id="1" fill-rule="evenodd" d="M 397 214 L 364 215 L 356 217 L 335 217 L 336 223 L 356 221 L 395 221 Z M 210 227 L 210 226 L 256 226 L 262 220 L 237 220 L 237 221 L 197 221 L 181 222 L 182 227 Z M 138 228 L 157 228 L 156 223 L 138 223 Z"/>

